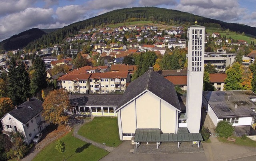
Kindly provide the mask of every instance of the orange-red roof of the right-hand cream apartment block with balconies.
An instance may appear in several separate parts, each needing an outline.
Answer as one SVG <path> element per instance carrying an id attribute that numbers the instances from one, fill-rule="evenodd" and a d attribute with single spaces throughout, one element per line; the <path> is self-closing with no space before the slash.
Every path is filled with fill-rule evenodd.
<path id="1" fill-rule="evenodd" d="M 92 73 L 90 79 L 127 78 L 129 72 Z"/>

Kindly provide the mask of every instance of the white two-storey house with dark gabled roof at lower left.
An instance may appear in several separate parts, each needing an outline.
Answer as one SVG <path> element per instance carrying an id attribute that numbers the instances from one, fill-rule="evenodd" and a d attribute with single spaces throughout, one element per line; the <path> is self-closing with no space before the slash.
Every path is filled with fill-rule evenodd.
<path id="1" fill-rule="evenodd" d="M 3 133 L 11 135 L 19 131 L 24 134 L 25 141 L 29 144 L 48 125 L 42 116 L 42 104 L 42 101 L 32 97 L 6 113 L 1 119 Z"/>

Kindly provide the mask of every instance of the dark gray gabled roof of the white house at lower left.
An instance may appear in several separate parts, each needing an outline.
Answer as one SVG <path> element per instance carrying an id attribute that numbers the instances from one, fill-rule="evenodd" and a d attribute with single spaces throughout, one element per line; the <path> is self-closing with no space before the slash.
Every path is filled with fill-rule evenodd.
<path id="1" fill-rule="evenodd" d="M 18 105 L 17 108 L 10 111 L 9 114 L 25 124 L 43 110 L 42 104 L 42 101 L 36 97 L 32 97 L 29 101 Z"/>

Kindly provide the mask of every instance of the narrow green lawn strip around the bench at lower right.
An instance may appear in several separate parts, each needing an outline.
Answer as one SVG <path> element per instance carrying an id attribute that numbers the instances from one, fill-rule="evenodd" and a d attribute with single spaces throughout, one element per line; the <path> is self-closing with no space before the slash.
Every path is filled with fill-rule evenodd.
<path id="1" fill-rule="evenodd" d="M 233 143 L 236 145 L 243 145 L 243 146 L 250 146 L 250 147 L 256 147 L 256 141 L 253 141 L 250 138 L 246 138 L 246 140 L 243 140 L 241 137 L 232 137 L 232 138 L 236 138 L 236 142 L 232 142 L 232 141 L 227 141 L 226 138 L 224 137 L 218 137 L 218 140 L 224 143 Z"/>

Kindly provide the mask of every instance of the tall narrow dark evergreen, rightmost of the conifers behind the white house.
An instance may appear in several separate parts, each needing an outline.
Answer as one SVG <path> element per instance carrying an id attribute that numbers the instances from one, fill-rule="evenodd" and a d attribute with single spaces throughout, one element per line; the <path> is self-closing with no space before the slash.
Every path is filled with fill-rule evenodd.
<path id="1" fill-rule="evenodd" d="M 41 58 L 39 58 L 39 56 L 37 56 L 33 63 L 33 67 L 34 72 L 32 74 L 30 87 L 31 94 L 35 95 L 47 86 L 46 66 L 44 61 Z"/>

